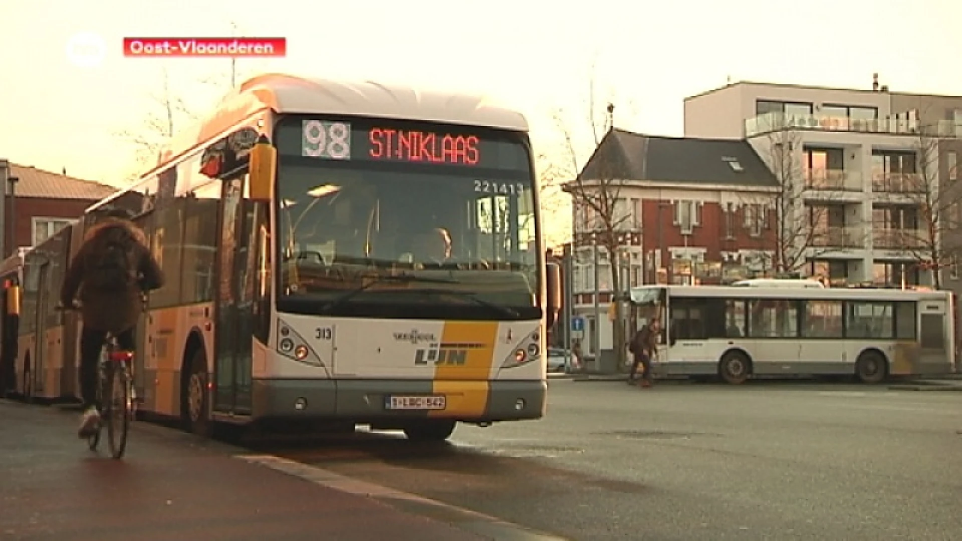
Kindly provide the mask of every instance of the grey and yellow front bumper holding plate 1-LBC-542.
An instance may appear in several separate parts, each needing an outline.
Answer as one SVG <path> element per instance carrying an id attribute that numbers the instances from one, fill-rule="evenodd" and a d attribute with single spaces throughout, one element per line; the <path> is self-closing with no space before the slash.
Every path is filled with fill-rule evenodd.
<path id="1" fill-rule="evenodd" d="M 255 379 L 254 420 L 454 419 L 469 423 L 544 417 L 546 380 Z M 443 409 L 392 409 L 392 397 L 444 397 Z M 397 400 L 394 400 L 395 402 Z"/>

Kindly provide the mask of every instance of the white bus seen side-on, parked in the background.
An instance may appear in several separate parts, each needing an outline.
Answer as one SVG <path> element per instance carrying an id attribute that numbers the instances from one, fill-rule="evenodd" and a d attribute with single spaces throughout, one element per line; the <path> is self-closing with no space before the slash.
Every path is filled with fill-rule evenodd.
<path id="1" fill-rule="evenodd" d="M 945 291 L 646 286 L 630 293 L 638 322 L 663 323 L 656 375 L 948 374 L 954 297 Z"/>

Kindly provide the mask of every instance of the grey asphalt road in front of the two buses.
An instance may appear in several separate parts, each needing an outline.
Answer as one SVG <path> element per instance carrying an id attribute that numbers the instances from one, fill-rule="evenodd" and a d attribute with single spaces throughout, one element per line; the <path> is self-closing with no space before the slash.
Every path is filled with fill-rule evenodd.
<path id="1" fill-rule="evenodd" d="M 271 452 L 569 539 L 958 539 L 962 393 L 553 380 L 544 420 Z"/>

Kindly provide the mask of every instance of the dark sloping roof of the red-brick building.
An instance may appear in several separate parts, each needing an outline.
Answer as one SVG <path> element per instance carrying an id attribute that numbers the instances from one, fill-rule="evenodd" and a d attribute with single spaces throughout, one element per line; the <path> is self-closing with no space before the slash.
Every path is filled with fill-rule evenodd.
<path id="1" fill-rule="evenodd" d="M 736 164 L 735 167 L 729 165 Z M 737 167 L 741 166 L 741 167 Z M 737 167 L 737 168 L 736 168 Z M 751 144 L 739 140 L 647 136 L 614 129 L 595 149 L 581 177 L 745 187 L 778 185 Z"/>

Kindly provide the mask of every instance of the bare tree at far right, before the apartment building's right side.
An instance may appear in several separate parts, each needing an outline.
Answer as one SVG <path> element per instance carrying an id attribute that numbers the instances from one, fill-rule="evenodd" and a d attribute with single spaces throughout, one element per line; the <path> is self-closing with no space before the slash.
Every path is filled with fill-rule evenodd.
<path id="1" fill-rule="evenodd" d="M 918 225 L 884 229 L 880 244 L 911 254 L 922 269 L 932 271 L 932 285 L 942 288 L 942 269 L 955 263 L 962 245 L 957 231 L 962 225 L 959 205 L 962 187 L 949 182 L 956 178 L 958 165 L 948 164 L 940 175 L 940 150 L 945 138 L 935 127 L 922 127 L 916 136 L 914 170 L 888 173 L 877 179 L 878 188 L 893 203 L 908 203 L 918 216 Z M 951 167 L 949 169 L 949 167 Z M 943 178 L 946 182 L 942 182 Z"/>

